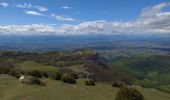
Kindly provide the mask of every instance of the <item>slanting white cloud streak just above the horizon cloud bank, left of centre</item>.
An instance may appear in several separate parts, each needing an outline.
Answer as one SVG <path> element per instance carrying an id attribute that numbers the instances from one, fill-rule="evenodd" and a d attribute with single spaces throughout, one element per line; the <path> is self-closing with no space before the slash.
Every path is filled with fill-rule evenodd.
<path id="1" fill-rule="evenodd" d="M 51 14 L 52 18 L 55 18 L 58 21 L 75 21 L 76 19 L 71 18 L 71 17 L 65 17 L 65 16 L 61 16 L 61 15 L 55 15 L 55 14 Z"/>

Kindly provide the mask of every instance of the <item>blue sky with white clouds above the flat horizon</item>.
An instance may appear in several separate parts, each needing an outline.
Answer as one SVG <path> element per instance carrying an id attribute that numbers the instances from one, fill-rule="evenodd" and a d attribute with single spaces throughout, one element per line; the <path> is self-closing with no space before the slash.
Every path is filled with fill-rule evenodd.
<path id="1" fill-rule="evenodd" d="M 0 0 L 1 35 L 170 35 L 169 0 Z"/>

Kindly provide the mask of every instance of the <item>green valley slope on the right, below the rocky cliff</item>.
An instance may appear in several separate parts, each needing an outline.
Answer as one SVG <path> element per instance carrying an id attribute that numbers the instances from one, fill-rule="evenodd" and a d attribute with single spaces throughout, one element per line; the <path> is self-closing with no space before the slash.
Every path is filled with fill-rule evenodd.
<path id="1" fill-rule="evenodd" d="M 103 59 L 114 71 L 129 76 L 145 88 L 170 92 L 169 55 L 129 55 Z"/>

